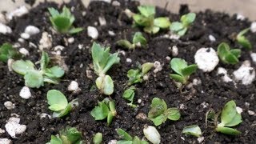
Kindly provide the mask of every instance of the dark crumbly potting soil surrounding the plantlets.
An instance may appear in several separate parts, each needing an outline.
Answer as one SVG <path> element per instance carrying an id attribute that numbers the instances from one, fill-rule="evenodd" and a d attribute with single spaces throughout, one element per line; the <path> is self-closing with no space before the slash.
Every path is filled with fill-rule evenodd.
<path id="1" fill-rule="evenodd" d="M 170 40 L 169 38 L 160 37 L 167 34 L 168 30 L 162 30 L 159 34 L 150 35 L 143 33 L 147 40 L 148 46 L 146 49 L 137 48 L 135 50 L 124 50 L 125 54 L 119 54 L 121 62 L 114 66 L 108 74 L 114 80 L 114 94 L 111 95 L 116 102 L 117 117 L 114 118 L 110 126 L 106 126 L 106 121 L 95 121 L 90 115 L 90 111 L 97 105 L 98 101 L 106 98 L 105 95 L 99 94 L 98 90 L 91 90 L 94 86 L 94 81 L 97 78 L 92 74 L 93 78 L 86 77 L 86 70 L 92 70 L 92 58 L 90 54 L 90 47 L 94 42 L 88 37 L 87 26 L 95 26 L 98 29 L 99 36 L 96 42 L 105 46 L 111 47 L 111 52 L 123 50 L 116 46 L 115 42 L 121 38 L 131 39 L 132 35 L 137 31 L 142 31 L 139 28 L 132 27 L 132 19 L 127 18 L 122 10 L 126 8 L 131 11 L 138 12 L 138 2 L 123 2 L 120 1 L 121 6 L 112 6 L 111 3 L 106 2 L 91 2 L 90 6 L 85 8 L 79 1 L 72 1 L 66 6 L 74 6 L 73 14 L 76 18 L 74 26 L 82 26 L 85 30 L 82 33 L 74 35 L 56 34 L 51 30 L 48 7 L 54 6 L 60 8 L 54 3 L 41 3 L 39 6 L 30 10 L 29 14 L 21 18 L 14 18 L 8 26 L 13 30 L 12 34 L 0 34 L 0 43 L 10 42 L 14 44 L 18 42 L 19 35 L 24 31 L 26 26 L 37 26 L 41 32 L 20 43 L 21 47 L 25 47 L 30 51 L 30 55 L 26 59 L 37 62 L 41 56 L 38 48 L 30 46 L 33 42 L 38 46 L 39 40 L 43 31 L 47 31 L 52 35 L 53 47 L 65 46 L 62 50 L 62 58 L 65 60 L 69 68 L 69 72 L 65 74 L 62 81 L 58 85 L 46 84 L 39 89 L 30 89 L 33 97 L 30 99 L 22 99 L 19 96 L 19 91 L 24 86 L 22 76 L 10 72 L 6 64 L 0 66 L 0 128 L 5 130 L 6 121 L 12 114 L 18 114 L 21 118 L 21 124 L 27 126 L 26 132 L 17 135 L 18 138 L 11 138 L 9 134 L 0 134 L 0 138 L 10 138 L 14 143 L 46 143 L 50 141 L 50 135 L 58 134 L 58 130 L 62 130 L 66 126 L 77 127 L 82 131 L 83 138 L 86 142 L 91 142 L 94 134 L 102 132 L 104 143 L 111 139 L 119 139 L 116 133 L 117 128 L 126 130 L 132 136 L 137 135 L 139 138 L 143 137 L 142 129 L 145 125 L 154 126 L 150 120 L 143 120 L 136 118 L 140 113 L 146 114 L 150 110 L 150 102 L 152 98 L 163 98 L 168 107 L 181 108 L 182 117 L 177 122 L 167 120 L 161 126 L 158 126 L 158 131 L 161 134 L 162 143 L 198 143 L 197 138 L 186 136 L 182 134 L 184 126 L 198 124 L 202 129 L 202 136 L 205 143 L 254 143 L 256 140 L 256 118 L 255 115 L 249 115 L 248 110 L 256 110 L 256 82 L 249 86 L 243 86 L 238 83 L 222 82 L 221 77 L 217 76 L 217 68 L 210 73 L 203 73 L 202 70 L 197 70 L 195 74 L 190 77 L 190 82 L 194 78 L 200 79 L 202 84 L 193 86 L 193 88 L 184 88 L 180 91 L 174 85 L 173 80 L 169 78 L 171 72 L 169 68 L 170 60 L 166 60 L 169 56 L 173 58 L 170 52 L 170 47 L 178 46 L 178 58 L 184 58 L 186 62 L 194 63 L 195 52 L 202 47 L 213 47 L 215 50 L 220 42 L 228 42 L 231 47 L 240 47 L 237 42 L 234 42 L 234 35 L 238 34 L 240 30 L 250 26 L 248 19 L 239 21 L 236 15 L 229 16 L 228 14 L 213 12 L 206 10 L 199 12 L 197 18 L 187 31 L 187 34 L 180 38 L 180 40 Z M 166 10 L 157 8 L 156 16 L 169 17 L 172 22 L 178 21 L 180 14 L 186 14 L 189 9 L 182 6 L 180 14 L 172 14 Z M 86 12 L 83 16 L 82 12 Z M 106 18 L 106 26 L 99 26 L 98 17 Z M 114 32 L 111 36 L 108 31 Z M 209 34 L 214 35 L 216 42 L 210 42 Z M 247 34 L 250 42 L 256 46 L 255 34 Z M 65 38 L 74 37 L 74 43 L 66 45 Z M 82 49 L 78 49 L 78 45 L 82 44 Z M 48 52 L 50 53 L 51 50 Z M 54 57 L 53 54 L 51 54 Z M 130 58 L 132 62 L 126 62 L 126 58 Z M 250 52 L 242 49 L 242 56 L 239 64 L 234 66 L 223 65 L 221 62 L 218 66 L 222 66 L 232 73 L 241 66 L 245 60 L 250 60 Z M 128 78 L 126 73 L 131 68 L 136 68 L 137 63 L 159 61 L 164 64 L 162 71 L 154 74 L 150 72 L 149 80 L 136 85 L 135 104 L 138 104 L 137 109 L 127 106 L 127 101 L 122 98 L 122 93 L 126 89 L 126 82 Z M 255 67 L 253 62 L 252 65 Z M 93 70 L 92 70 L 93 71 Z M 67 91 L 67 86 L 71 81 L 76 80 L 81 88 L 77 94 Z M 65 118 L 39 118 L 39 114 L 52 114 L 48 109 L 46 102 L 46 93 L 48 90 L 61 90 L 66 95 L 69 101 L 74 98 L 79 98 L 79 106 L 76 107 Z M 137 103 L 138 99 L 141 103 Z M 242 134 L 237 137 L 228 136 L 214 132 L 214 128 L 206 127 L 205 114 L 208 110 L 221 110 L 222 106 L 230 100 L 234 100 L 237 106 L 243 109 L 242 123 L 235 128 L 240 130 Z M 3 103 L 6 101 L 14 102 L 16 106 L 13 110 L 7 110 Z M 250 103 L 250 106 L 246 104 Z"/>

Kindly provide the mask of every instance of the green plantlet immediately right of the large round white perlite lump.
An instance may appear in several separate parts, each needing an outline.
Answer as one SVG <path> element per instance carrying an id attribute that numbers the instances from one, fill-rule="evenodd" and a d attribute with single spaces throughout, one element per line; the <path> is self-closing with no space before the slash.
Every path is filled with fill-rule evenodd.
<path id="1" fill-rule="evenodd" d="M 240 55 L 240 49 L 230 50 L 230 46 L 226 42 L 222 42 L 218 45 L 218 57 L 222 60 L 223 63 L 237 64 L 239 62 L 238 58 Z"/>

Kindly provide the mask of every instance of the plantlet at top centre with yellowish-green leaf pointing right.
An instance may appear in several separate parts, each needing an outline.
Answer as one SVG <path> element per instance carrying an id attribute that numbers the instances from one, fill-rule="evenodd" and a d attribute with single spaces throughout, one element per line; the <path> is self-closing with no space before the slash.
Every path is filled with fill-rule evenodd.
<path id="1" fill-rule="evenodd" d="M 150 34 L 157 34 L 160 29 L 166 29 L 170 26 L 170 20 L 167 17 L 154 18 L 154 6 L 138 6 L 140 14 L 134 14 L 134 22 L 137 26 L 144 27 L 144 31 Z"/>

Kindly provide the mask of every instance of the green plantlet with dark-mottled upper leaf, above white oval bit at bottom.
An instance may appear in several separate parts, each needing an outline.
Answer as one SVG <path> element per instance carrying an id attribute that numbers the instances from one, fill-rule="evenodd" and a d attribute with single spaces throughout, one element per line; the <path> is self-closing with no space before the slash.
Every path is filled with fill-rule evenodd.
<path id="1" fill-rule="evenodd" d="M 148 118 L 154 122 L 155 126 L 159 126 L 163 122 L 166 122 L 167 118 L 172 121 L 177 121 L 181 117 L 177 108 L 167 109 L 166 102 L 160 98 L 153 98 L 150 107 L 151 109 Z"/>

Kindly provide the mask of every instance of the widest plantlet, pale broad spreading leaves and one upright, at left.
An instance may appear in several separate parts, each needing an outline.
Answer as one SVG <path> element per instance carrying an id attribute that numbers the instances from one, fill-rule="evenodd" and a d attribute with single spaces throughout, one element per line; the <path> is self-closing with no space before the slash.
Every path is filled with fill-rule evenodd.
<path id="1" fill-rule="evenodd" d="M 44 82 L 58 84 L 59 78 L 64 75 L 64 70 L 59 66 L 48 67 L 50 58 L 46 52 L 42 52 L 40 69 L 37 70 L 30 60 L 18 60 L 12 64 L 12 69 L 24 75 L 25 85 L 31 88 L 39 88 Z"/>

